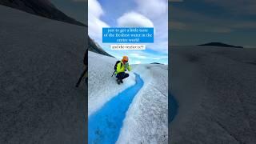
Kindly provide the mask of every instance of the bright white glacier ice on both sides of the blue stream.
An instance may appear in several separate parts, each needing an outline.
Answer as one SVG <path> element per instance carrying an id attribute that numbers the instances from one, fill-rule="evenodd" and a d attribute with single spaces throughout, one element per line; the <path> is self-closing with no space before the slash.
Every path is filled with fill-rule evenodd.
<path id="1" fill-rule="evenodd" d="M 134 73 L 144 86 L 134 97 L 117 143 L 167 143 L 168 140 L 168 66 L 132 65 L 130 77 L 118 85 L 114 72 L 116 58 L 89 52 L 89 117 L 122 90 L 135 84 Z"/>

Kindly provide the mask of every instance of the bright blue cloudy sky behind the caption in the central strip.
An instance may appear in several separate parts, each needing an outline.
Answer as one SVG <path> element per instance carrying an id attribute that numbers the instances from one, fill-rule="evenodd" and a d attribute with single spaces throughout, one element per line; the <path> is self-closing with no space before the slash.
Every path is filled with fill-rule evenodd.
<path id="1" fill-rule="evenodd" d="M 168 63 L 167 0 L 88 0 L 88 33 L 107 53 L 131 64 Z M 102 43 L 102 27 L 154 27 L 154 43 L 143 43 L 146 50 L 111 50 Z M 136 43 L 134 43 L 136 44 Z"/>

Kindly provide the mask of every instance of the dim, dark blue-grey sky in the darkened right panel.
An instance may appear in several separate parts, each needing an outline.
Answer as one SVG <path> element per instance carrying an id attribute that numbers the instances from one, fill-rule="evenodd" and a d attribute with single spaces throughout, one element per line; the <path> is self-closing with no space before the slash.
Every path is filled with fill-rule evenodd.
<path id="1" fill-rule="evenodd" d="M 169 0 L 171 46 L 224 42 L 256 48 L 255 0 Z"/>

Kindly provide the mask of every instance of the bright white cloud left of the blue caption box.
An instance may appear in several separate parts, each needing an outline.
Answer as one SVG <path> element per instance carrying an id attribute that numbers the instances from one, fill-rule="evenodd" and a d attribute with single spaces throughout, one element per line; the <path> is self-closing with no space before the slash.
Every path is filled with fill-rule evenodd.
<path id="1" fill-rule="evenodd" d="M 97 0 L 88 0 L 88 33 L 94 39 L 102 38 L 102 27 L 110 27 L 100 17 L 104 14 Z"/>

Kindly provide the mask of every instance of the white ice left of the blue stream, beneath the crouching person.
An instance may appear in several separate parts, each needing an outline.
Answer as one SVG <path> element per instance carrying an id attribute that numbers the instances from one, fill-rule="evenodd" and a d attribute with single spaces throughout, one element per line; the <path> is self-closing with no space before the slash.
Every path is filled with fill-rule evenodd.
<path id="1" fill-rule="evenodd" d="M 122 90 L 135 84 L 135 75 L 124 80 L 118 85 L 116 78 L 111 75 L 114 72 L 114 64 L 118 59 L 102 54 L 89 52 L 88 54 L 88 116 L 99 110 L 106 102 L 116 96 Z"/>

